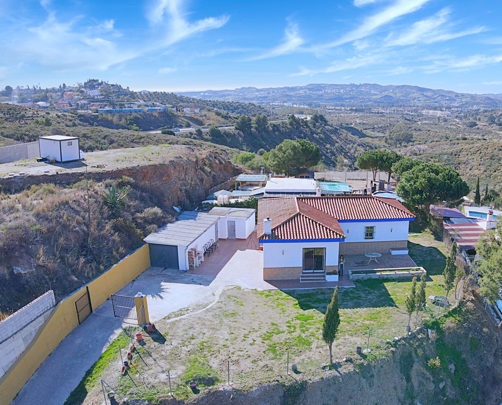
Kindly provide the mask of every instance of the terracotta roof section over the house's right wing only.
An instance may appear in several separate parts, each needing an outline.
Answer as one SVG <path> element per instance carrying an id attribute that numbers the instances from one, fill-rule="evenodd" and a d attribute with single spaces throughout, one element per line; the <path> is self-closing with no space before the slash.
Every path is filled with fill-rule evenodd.
<path id="1" fill-rule="evenodd" d="M 373 196 L 299 197 L 338 221 L 415 218 L 395 198 Z"/>

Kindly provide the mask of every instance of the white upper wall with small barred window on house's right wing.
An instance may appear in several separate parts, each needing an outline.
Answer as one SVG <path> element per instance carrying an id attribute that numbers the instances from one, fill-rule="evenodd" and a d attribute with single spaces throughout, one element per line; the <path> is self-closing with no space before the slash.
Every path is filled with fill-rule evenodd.
<path id="1" fill-rule="evenodd" d="M 407 240 L 410 221 L 341 222 L 345 242 L 383 242 Z M 364 227 L 374 226 L 374 239 L 364 239 Z"/>

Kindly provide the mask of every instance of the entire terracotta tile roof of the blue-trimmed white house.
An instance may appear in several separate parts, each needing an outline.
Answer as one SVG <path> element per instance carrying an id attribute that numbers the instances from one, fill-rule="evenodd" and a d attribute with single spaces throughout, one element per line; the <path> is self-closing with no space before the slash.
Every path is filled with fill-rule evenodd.
<path id="1" fill-rule="evenodd" d="M 272 235 L 263 220 L 272 220 Z M 372 196 L 290 197 L 258 201 L 260 240 L 344 239 L 340 221 L 412 219 L 414 215 L 393 198 Z"/>

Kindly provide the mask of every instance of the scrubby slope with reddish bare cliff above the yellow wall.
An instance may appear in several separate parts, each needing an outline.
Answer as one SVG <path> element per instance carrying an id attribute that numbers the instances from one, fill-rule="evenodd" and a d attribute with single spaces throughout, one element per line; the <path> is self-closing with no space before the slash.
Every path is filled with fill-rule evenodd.
<path id="1" fill-rule="evenodd" d="M 151 166 L 94 170 L 88 190 L 85 175 L 73 173 L 60 173 L 58 184 L 51 183 L 52 176 L 41 176 L 45 183 L 27 177 L 24 189 L 14 193 L 4 187 L 0 311 L 16 311 L 50 289 L 61 299 L 173 221 L 173 205 L 193 208 L 209 187 L 233 174 L 212 152 L 168 149 L 172 153 Z"/>

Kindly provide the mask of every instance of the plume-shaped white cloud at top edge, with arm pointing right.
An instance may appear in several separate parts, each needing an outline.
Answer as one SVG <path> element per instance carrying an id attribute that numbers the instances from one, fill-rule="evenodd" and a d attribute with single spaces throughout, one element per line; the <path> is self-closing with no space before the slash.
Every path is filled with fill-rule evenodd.
<path id="1" fill-rule="evenodd" d="M 220 16 L 189 23 L 182 12 L 183 4 L 181 0 L 156 0 L 147 14 L 152 26 L 167 25 L 168 29 L 162 41 L 164 46 L 173 45 L 203 31 L 220 28 L 229 20 L 228 16 Z"/>

